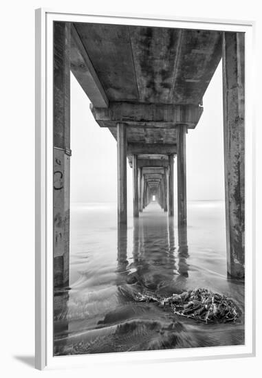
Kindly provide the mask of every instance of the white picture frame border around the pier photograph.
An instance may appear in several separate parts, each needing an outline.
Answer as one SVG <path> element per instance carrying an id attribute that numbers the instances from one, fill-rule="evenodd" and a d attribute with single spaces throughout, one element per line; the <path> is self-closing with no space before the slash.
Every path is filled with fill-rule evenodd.
<path id="1" fill-rule="evenodd" d="M 74 21 L 155 25 L 245 32 L 245 345 L 165 351 L 108 353 L 54 357 L 52 318 L 52 23 Z M 186 361 L 251 357 L 255 355 L 254 319 L 254 22 L 175 18 L 163 15 L 84 14 L 63 10 L 36 10 L 36 368 L 71 368 L 91 362 Z"/>

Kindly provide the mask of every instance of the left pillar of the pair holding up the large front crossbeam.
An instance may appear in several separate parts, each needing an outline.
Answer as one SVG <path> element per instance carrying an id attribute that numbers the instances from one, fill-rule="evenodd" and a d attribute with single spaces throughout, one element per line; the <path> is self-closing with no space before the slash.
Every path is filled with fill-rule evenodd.
<path id="1" fill-rule="evenodd" d="M 127 131 L 117 124 L 118 144 L 118 223 L 127 224 Z"/>

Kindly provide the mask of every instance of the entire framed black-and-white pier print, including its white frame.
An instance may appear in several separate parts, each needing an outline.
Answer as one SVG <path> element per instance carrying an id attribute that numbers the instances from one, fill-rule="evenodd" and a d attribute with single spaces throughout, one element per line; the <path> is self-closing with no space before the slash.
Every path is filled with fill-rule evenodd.
<path id="1" fill-rule="evenodd" d="M 254 23 L 36 10 L 36 367 L 254 355 Z"/>

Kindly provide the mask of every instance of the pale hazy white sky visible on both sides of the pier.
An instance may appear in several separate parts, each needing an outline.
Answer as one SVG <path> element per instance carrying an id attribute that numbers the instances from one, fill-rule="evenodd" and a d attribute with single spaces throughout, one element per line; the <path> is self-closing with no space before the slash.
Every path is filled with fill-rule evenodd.
<path id="1" fill-rule="evenodd" d="M 89 110 L 89 98 L 71 78 L 71 201 L 117 200 L 116 140 L 100 128 Z M 204 112 L 186 135 L 188 199 L 223 199 L 223 107 L 221 63 L 204 96 Z M 175 159 L 176 168 L 176 159 Z M 175 186 L 176 188 L 176 169 Z M 128 201 L 132 170 L 127 164 Z"/>

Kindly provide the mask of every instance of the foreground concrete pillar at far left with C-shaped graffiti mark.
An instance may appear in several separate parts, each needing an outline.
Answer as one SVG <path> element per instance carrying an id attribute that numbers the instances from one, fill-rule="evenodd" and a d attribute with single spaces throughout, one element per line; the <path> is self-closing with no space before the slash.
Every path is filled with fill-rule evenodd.
<path id="1" fill-rule="evenodd" d="M 69 285 L 70 23 L 54 22 L 54 287 Z"/>

